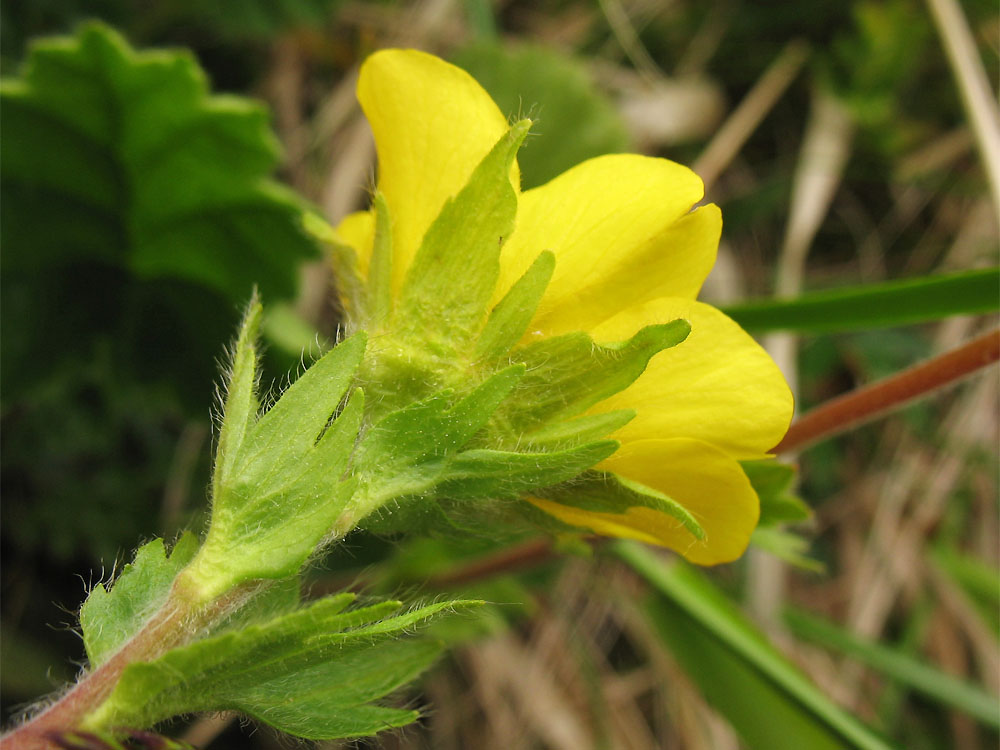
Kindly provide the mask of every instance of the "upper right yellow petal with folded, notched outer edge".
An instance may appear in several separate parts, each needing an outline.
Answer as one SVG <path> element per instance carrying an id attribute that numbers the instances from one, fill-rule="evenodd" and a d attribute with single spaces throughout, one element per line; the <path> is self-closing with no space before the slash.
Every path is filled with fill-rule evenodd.
<path id="1" fill-rule="evenodd" d="M 530 147 L 530 146 L 529 146 Z M 556 256 L 533 331 L 587 330 L 657 297 L 694 298 L 715 262 L 718 208 L 691 212 L 701 179 L 666 159 L 590 159 L 521 195 L 498 299 L 542 250 Z"/>

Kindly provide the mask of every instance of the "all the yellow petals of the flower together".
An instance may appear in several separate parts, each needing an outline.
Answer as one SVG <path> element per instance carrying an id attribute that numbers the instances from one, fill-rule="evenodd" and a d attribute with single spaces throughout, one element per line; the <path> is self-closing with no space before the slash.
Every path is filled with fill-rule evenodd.
<path id="1" fill-rule="evenodd" d="M 413 50 L 368 58 L 358 98 L 374 131 L 378 186 L 392 218 L 392 284 L 398 294 L 425 231 L 508 122 L 468 74 Z M 592 159 L 524 192 L 515 163 L 511 182 L 518 192 L 517 223 L 501 254 L 496 300 L 539 252 L 551 250 L 556 257 L 526 338 L 582 330 L 611 342 L 651 323 L 683 318 L 691 324 L 683 343 L 654 356 L 638 380 L 592 411 L 637 413 L 611 435 L 621 447 L 597 468 L 677 501 L 705 536 L 694 538 L 679 521 L 651 508 L 597 513 L 530 501 L 572 526 L 668 546 L 697 563 L 738 557 L 759 515 L 738 461 L 762 458 L 779 442 L 792 398 L 753 339 L 695 300 L 715 262 L 719 209 L 692 210 L 703 185 L 689 169 L 637 155 Z M 366 273 L 372 213 L 352 214 L 337 232 Z"/>

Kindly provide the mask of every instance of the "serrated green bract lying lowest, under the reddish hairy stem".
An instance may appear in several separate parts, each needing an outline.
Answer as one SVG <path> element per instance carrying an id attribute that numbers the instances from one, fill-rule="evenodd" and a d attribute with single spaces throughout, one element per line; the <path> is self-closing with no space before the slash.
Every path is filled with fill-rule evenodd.
<path id="1" fill-rule="evenodd" d="M 129 666 L 85 728 L 149 726 L 193 711 L 236 710 L 311 739 L 374 734 L 417 718 L 372 702 L 412 680 L 440 647 L 404 632 L 447 610 L 440 602 L 392 615 L 399 602 L 346 610 L 353 595 L 316 602 L 263 625 Z"/>

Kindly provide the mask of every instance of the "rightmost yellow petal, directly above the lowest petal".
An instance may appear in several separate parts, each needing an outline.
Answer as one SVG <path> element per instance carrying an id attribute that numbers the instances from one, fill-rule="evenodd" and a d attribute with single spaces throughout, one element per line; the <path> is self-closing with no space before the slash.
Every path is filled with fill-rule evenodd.
<path id="1" fill-rule="evenodd" d="M 677 318 L 691 323 L 687 339 L 654 356 L 635 383 L 598 405 L 637 412 L 612 437 L 623 443 L 696 438 L 734 458 L 760 458 L 788 429 L 792 394 L 767 352 L 728 317 L 701 302 L 660 299 L 591 333 L 598 341 L 620 341 L 644 325 Z"/>

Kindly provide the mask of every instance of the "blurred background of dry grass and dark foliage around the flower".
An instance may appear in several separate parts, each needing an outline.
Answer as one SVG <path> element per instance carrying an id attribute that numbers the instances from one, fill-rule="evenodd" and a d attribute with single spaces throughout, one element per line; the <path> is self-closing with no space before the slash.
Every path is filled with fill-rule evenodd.
<path id="1" fill-rule="evenodd" d="M 995 90 L 997 4 L 966 0 L 961 11 Z M 276 179 L 333 223 L 365 207 L 375 174 L 358 66 L 408 46 L 537 120 L 519 156 L 525 187 L 609 152 L 692 166 L 725 220 L 703 293 L 717 305 L 997 263 L 988 173 L 921 0 L 5 0 L 0 13 L 4 76 L 33 39 L 87 19 L 137 49 L 192 50 L 214 92 L 266 103 Z M 5 720 L 82 662 L 73 626 L 90 586 L 140 540 L 200 528 L 219 362 L 252 285 L 273 308 L 264 382 L 275 389 L 338 321 L 335 281 L 304 236 L 274 235 L 250 271 L 223 257 L 235 281 L 214 283 L 109 259 L 58 200 L 46 204 L 53 226 L 72 222 L 58 230 L 59 253 L 39 259 L 19 216 L 32 232 L 58 227 L 18 200 L 5 191 Z M 991 325 L 959 317 L 764 343 L 802 412 Z M 823 694 L 901 747 L 997 746 L 997 407 L 993 369 L 811 448 L 796 459 L 811 517 L 708 572 Z M 619 561 L 504 549 L 358 534 L 317 566 L 317 593 L 494 603 L 439 626 L 454 648 L 399 698 L 427 707 L 419 724 L 324 747 L 762 746 L 753 725 L 772 719 L 755 683 L 705 652 L 704 669 L 721 670 L 749 715 L 699 686 L 697 637 L 679 653 L 683 639 L 661 627 L 669 606 L 650 603 Z M 227 717 L 167 731 L 218 750 L 287 745 Z"/>

